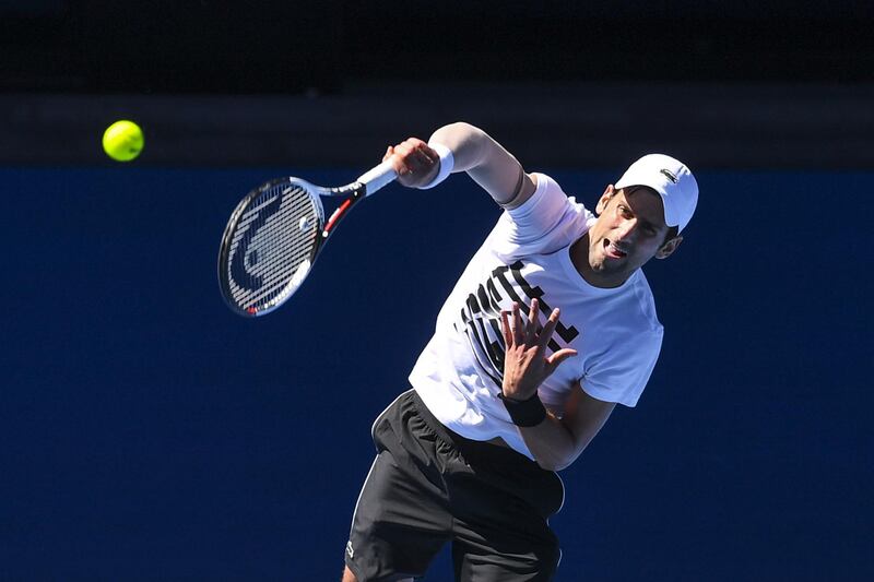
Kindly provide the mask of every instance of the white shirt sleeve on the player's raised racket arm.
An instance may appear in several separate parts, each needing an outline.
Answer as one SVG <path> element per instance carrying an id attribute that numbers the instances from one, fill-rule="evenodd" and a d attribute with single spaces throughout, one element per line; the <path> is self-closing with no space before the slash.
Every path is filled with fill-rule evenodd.
<path id="1" fill-rule="evenodd" d="M 592 217 L 555 180 L 545 174 L 534 176 L 534 193 L 522 205 L 505 211 L 491 235 L 493 249 L 507 260 L 566 247 L 586 233 Z"/>

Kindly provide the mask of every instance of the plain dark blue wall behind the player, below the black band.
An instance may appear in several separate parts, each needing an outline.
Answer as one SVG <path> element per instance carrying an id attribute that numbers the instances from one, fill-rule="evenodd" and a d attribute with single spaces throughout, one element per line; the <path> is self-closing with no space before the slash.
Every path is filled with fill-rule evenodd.
<path id="1" fill-rule="evenodd" d="M 0 169 L 0 579 L 339 578 L 370 424 L 498 210 L 391 186 L 244 320 L 218 239 L 284 174 L 357 173 Z M 552 174 L 591 204 L 617 171 Z M 659 365 L 563 473 L 557 580 L 871 580 L 874 174 L 698 177 L 646 268 Z"/>

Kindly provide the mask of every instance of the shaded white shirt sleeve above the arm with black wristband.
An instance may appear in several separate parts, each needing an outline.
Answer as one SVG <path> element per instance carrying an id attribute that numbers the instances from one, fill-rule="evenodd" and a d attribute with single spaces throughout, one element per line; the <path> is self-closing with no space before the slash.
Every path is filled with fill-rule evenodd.
<path id="1" fill-rule="evenodd" d="M 662 328 L 637 336 L 626 345 L 630 351 L 612 349 L 587 370 L 580 383 L 592 397 L 634 407 L 656 368 L 662 346 Z"/>

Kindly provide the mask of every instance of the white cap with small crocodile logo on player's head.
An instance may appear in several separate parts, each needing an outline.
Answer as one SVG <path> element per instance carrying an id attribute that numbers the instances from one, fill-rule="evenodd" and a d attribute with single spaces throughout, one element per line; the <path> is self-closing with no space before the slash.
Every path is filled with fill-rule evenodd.
<path id="1" fill-rule="evenodd" d="M 689 224 L 698 204 L 698 182 L 689 168 L 678 159 L 664 154 L 645 155 L 631 164 L 619 181 L 617 190 L 629 186 L 648 186 L 662 197 L 664 222 L 680 231 Z"/>

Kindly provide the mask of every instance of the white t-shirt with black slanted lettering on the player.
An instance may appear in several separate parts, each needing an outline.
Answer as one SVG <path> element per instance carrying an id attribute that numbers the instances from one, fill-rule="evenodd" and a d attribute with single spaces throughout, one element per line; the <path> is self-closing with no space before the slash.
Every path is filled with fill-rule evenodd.
<path id="1" fill-rule="evenodd" d="M 554 308 L 562 309 L 550 352 L 572 347 L 579 354 L 538 390 L 558 415 L 577 382 L 592 397 L 635 406 L 663 332 L 642 271 L 612 289 L 582 278 L 570 261 L 570 246 L 595 217 L 548 176 L 538 174 L 536 180 L 531 199 L 501 214 L 468 263 L 410 373 L 412 387 L 448 428 L 473 440 L 500 437 L 531 459 L 497 397 L 504 369 L 501 310 L 518 301 L 525 319 L 531 299 L 538 298 L 543 324 Z"/>

